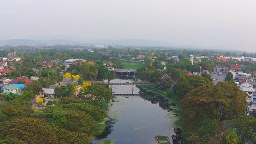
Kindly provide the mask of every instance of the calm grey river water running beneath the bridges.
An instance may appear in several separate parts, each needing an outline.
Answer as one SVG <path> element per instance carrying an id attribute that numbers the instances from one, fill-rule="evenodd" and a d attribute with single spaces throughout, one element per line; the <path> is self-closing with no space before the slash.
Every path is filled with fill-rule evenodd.
<path id="1" fill-rule="evenodd" d="M 114 79 L 111 82 L 127 81 L 129 80 Z M 114 85 L 112 91 L 115 94 L 131 94 L 132 86 Z M 134 86 L 134 94 L 141 93 L 144 95 L 115 98 L 108 111 L 112 122 L 108 121 L 105 132 L 92 144 L 100 144 L 105 140 L 112 140 L 114 144 L 157 144 L 156 135 L 166 135 L 170 141 L 172 137 L 177 137 L 173 128 L 175 115 L 171 113 L 171 105 L 174 104 Z"/>

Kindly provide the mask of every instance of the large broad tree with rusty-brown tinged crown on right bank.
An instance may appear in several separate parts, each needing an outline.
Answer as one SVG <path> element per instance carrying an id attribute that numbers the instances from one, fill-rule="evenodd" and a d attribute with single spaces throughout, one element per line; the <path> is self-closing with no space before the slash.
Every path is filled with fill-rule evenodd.
<path id="1" fill-rule="evenodd" d="M 184 122 L 191 127 L 206 119 L 240 118 L 246 111 L 246 94 L 230 82 L 201 85 L 181 100 Z"/>

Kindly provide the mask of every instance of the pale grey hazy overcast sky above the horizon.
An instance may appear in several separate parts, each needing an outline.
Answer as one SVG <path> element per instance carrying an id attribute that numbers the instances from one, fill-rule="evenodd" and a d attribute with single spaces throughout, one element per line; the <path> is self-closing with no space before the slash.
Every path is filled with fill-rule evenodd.
<path id="1" fill-rule="evenodd" d="M 253 51 L 256 0 L 0 0 L 0 39 L 37 36 Z"/>

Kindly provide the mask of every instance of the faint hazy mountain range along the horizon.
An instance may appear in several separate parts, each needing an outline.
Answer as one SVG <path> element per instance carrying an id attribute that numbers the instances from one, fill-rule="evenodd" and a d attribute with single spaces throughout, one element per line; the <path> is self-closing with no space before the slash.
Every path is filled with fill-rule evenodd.
<path id="1" fill-rule="evenodd" d="M 32 39 L 9 39 L 0 40 L 0 45 L 31 45 L 31 44 L 89 44 L 89 45 L 121 45 L 121 46 L 171 46 L 167 42 L 158 40 L 145 40 L 145 39 L 124 39 L 124 40 L 80 40 L 73 41 L 69 39 L 49 39 L 49 40 L 32 40 Z"/>

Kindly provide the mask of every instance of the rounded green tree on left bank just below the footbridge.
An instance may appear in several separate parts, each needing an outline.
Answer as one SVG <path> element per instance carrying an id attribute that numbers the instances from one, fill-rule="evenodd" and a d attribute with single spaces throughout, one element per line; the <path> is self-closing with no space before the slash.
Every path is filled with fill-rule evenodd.
<path id="1" fill-rule="evenodd" d="M 110 102 L 113 98 L 111 90 L 104 85 L 90 85 L 84 92 L 95 101 Z"/>

